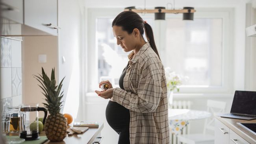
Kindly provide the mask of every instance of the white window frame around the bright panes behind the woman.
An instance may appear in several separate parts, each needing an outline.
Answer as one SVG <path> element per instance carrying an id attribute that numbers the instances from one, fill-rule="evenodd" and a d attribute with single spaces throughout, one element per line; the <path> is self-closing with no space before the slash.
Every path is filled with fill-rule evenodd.
<path id="1" fill-rule="evenodd" d="M 98 51 L 96 49 L 96 18 L 113 18 L 123 9 L 118 8 L 89 8 L 87 11 L 87 53 L 86 53 L 86 93 L 94 92 L 93 85 L 98 85 Z M 154 14 L 147 14 L 143 17 L 153 17 Z M 182 18 L 182 14 L 166 14 L 167 18 Z M 197 8 L 194 18 L 222 18 L 223 19 L 223 50 L 222 50 L 222 86 L 181 86 L 178 95 L 194 94 L 230 94 L 234 87 L 234 54 L 233 54 L 233 33 L 234 30 L 234 9 L 233 8 Z M 154 38 L 158 49 L 164 52 L 166 23 L 163 20 L 154 20 Z M 161 37 L 160 37 L 161 35 Z M 161 54 L 160 54 L 161 57 Z M 89 94 L 90 95 L 90 94 Z"/>

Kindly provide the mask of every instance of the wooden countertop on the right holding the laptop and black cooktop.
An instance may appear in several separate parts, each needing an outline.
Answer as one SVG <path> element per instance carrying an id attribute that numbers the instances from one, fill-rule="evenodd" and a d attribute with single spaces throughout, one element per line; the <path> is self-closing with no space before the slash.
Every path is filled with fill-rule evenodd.
<path id="1" fill-rule="evenodd" d="M 247 131 L 245 128 L 239 126 L 237 122 L 240 123 L 256 123 L 256 120 L 240 120 L 235 118 L 223 118 L 220 116 L 215 116 L 219 121 L 221 121 L 224 125 L 230 128 L 232 131 L 237 133 L 240 137 L 245 139 L 250 144 L 256 144 L 256 135 Z"/>

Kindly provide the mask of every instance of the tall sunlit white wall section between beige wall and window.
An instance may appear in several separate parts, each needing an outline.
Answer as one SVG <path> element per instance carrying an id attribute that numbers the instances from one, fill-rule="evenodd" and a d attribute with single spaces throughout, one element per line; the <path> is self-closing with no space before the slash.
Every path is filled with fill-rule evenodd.
<path id="1" fill-rule="evenodd" d="M 63 113 L 70 113 L 74 118 L 77 116 L 80 98 L 80 61 L 81 48 L 81 17 L 83 2 L 81 0 L 58 1 L 58 65 L 59 81 L 63 81 L 65 105 Z M 80 49 L 81 48 L 81 49 Z M 65 57 L 65 62 L 63 58 Z"/>

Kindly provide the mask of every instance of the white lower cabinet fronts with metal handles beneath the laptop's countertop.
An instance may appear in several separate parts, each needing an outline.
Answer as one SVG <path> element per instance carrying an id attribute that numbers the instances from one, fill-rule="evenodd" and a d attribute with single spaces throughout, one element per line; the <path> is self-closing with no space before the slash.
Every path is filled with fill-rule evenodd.
<path id="1" fill-rule="evenodd" d="M 249 144 L 234 131 L 215 118 L 215 144 Z"/>

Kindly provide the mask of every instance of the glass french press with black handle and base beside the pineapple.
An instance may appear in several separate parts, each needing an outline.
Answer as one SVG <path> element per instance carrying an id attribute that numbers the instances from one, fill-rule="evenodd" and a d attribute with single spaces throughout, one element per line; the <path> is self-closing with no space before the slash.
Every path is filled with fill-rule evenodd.
<path id="1" fill-rule="evenodd" d="M 38 133 L 38 111 L 45 112 L 43 119 L 43 124 L 45 124 L 47 110 L 44 107 L 38 107 L 38 103 L 21 105 L 20 138 L 24 138 L 25 140 L 40 139 Z"/>

